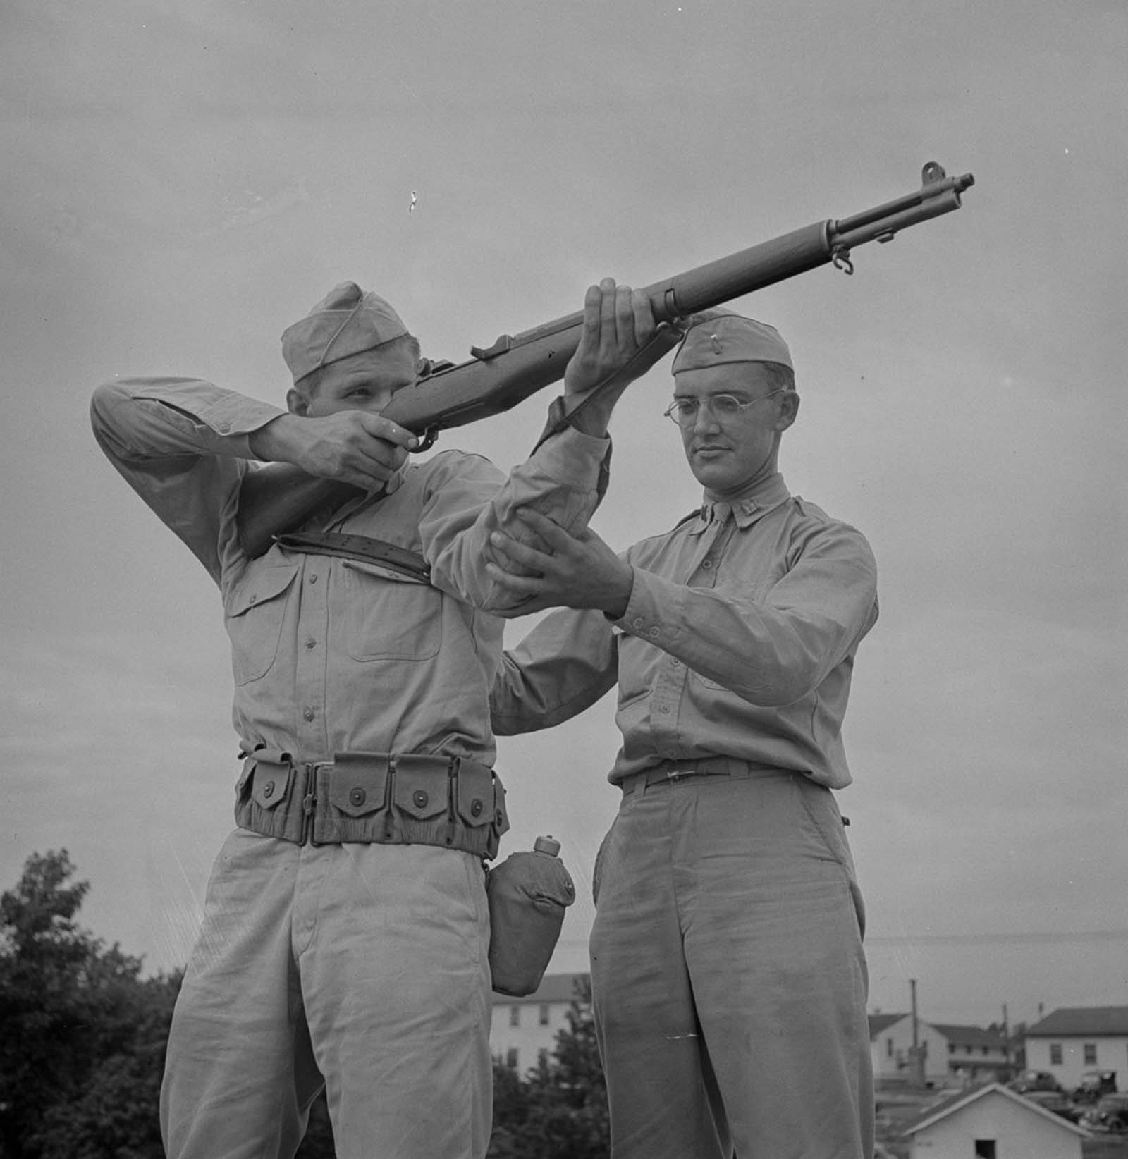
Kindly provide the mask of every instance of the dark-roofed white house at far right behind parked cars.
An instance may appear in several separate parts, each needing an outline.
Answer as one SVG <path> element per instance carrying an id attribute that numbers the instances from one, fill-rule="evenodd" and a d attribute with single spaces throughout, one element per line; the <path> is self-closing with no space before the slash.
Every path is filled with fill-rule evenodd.
<path id="1" fill-rule="evenodd" d="M 1071 1091 L 1085 1071 L 1128 1078 L 1128 1006 L 1063 1006 L 1026 1030 L 1026 1065 Z"/>

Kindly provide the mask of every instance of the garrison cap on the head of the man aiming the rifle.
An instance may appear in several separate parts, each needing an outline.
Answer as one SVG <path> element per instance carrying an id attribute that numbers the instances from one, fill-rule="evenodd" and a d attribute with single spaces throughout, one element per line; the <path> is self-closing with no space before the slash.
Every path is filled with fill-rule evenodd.
<path id="1" fill-rule="evenodd" d="M 355 282 L 334 286 L 301 319 L 282 333 L 282 357 L 294 382 L 349 355 L 383 347 L 407 334 L 400 315 Z"/>

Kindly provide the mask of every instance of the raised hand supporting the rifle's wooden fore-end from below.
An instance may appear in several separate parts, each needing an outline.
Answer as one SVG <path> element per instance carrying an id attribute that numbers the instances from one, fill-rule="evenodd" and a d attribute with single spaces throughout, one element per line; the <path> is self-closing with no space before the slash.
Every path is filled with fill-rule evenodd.
<path id="1" fill-rule="evenodd" d="M 650 299 L 641 290 L 617 286 L 613 278 L 588 286 L 580 345 L 565 371 L 565 410 L 572 414 L 578 408 L 573 425 L 585 435 L 605 435 L 627 385 L 679 340 L 676 329 L 655 322 Z M 591 393 L 604 382 L 603 389 Z"/>

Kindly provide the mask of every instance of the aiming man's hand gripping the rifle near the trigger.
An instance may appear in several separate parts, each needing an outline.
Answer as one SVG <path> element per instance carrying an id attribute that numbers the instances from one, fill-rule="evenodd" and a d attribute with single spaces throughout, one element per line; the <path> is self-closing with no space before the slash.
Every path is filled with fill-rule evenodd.
<path id="1" fill-rule="evenodd" d="M 319 418 L 279 415 L 250 436 L 250 449 L 268 462 L 292 462 L 306 474 L 380 490 L 419 439 L 406 428 L 364 410 Z"/>

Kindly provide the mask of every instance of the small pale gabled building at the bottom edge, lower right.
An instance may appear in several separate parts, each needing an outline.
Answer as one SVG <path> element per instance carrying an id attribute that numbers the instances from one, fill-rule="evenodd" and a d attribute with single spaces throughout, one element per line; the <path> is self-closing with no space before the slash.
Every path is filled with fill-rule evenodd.
<path id="1" fill-rule="evenodd" d="M 1089 1132 L 998 1083 L 961 1091 L 905 1128 L 910 1159 L 1082 1159 Z"/>

